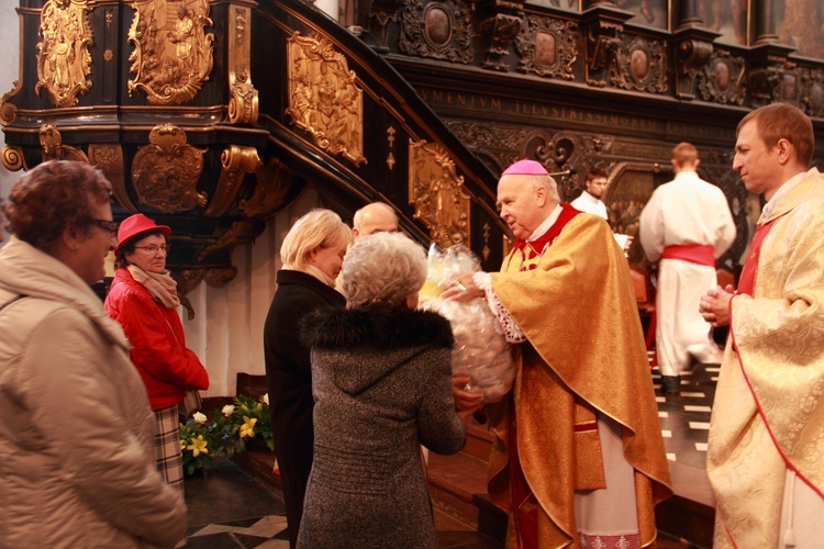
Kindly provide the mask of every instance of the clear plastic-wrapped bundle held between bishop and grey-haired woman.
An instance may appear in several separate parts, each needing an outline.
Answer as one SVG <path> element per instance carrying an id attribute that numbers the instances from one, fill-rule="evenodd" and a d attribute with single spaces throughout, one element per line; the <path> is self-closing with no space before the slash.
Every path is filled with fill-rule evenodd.
<path id="1" fill-rule="evenodd" d="M 439 313 L 452 324 L 455 347 L 453 373 L 470 378 L 466 390 L 483 396 L 483 403 L 498 402 L 512 389 L 514 369 L 510 344 L 501 324 L 485 298 L 458 302 L 441 298 L 455 272 L 478 271 L 480 261 L 464 245 L 439 250 L 430 247 L 430 271 L 421 291 L 422 309 Z"/>

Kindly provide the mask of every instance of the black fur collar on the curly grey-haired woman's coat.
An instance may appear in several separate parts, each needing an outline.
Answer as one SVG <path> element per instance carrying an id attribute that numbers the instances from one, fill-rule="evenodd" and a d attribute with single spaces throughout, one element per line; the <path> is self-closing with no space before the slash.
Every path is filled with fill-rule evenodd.
<path id="1" fill-rule="evenodd" d="M 325 349 L 396 349 L 432 345 L 452 348 L 449 321 L 437 313 L 409 309 L 319 310 L 301 321 L 301 340 Z"/>

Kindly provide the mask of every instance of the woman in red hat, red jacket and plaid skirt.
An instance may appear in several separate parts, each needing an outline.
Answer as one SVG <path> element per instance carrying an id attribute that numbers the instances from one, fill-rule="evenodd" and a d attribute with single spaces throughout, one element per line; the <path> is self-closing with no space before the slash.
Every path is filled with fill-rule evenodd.
<path id="1" fill-rule="evenodd" d="M 129 351 L 146 385 L 155 413 L 155 458 L 166 482 L 183 491 L 177 406 L 187 389 L 209 389 L 209 374 L 186 348 L 177 307 L 177 283 L 166 270 L 171 229 L 138 213 L 118 231 L 114 280 L 105 299 L 109 316 L 120 322 Z"/>

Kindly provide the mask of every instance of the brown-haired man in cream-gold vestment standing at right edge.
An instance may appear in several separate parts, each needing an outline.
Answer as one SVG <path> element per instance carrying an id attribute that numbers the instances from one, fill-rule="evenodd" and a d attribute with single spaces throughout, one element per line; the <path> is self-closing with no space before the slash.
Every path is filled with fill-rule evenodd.
<path id="1" fill-rule="evenodd" d="M 733 168 L 764 193 L 738 289 L 701 299 L 730 325 L 706 472 L 715 545 L 822 547 L 824 540 L 824 175 L 804 113 L 776 103 L 738 124 Z"/>

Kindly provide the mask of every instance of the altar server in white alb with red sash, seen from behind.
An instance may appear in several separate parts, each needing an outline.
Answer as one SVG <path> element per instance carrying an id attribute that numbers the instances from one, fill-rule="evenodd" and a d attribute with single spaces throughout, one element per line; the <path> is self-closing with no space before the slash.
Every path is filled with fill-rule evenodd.
<path id="1" fill-rule="evenodd" d="M 639 237 L 647 258 L 659 261 L 656 350 L 664 389 L 677 392 L 692 359 L 721 362 L 698 304 L 717 283 L 715 260 L 735 240 L 735 223 L 724 192 L 698 177 L 693 145 L 676 145 L 670 161 L 676 178 L 644 206 Z"/>

